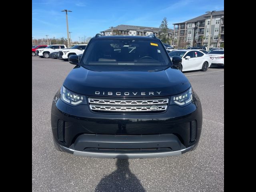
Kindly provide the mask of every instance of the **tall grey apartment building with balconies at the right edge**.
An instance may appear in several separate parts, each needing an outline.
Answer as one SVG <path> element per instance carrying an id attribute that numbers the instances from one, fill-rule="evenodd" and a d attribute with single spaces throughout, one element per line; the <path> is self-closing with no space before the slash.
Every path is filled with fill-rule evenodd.
<path id="1" fill-rule="evenodd" d="M 174 47 L 207 46 L 208 38 L 210 47 L 224 45 L 224 10 L 213 12 L 211 22 L 207 13 L 173 25 Z"/>

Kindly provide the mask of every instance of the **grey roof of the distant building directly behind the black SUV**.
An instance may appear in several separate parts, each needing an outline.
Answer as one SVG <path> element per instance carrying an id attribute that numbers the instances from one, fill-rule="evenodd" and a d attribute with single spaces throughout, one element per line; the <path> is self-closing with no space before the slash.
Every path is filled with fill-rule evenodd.
<path id="1" fill-rule="evenodd" d="M 101 31 L 101 32 L 110 32 L 112 29 L 109 28 L 107 30 Z M 134 30 L 138 32 L 144 32 L 144 31 L 153 31 L 153 32 L 159 32 L 161 28 L 157 27 L 143 27 L 143 26 L 134 26 L 134 25 L 118 25 L 116 27 L 113 27 L 113 30 Z M 168 32 L 172 33 L 173 29 L 169 29 Z"/>

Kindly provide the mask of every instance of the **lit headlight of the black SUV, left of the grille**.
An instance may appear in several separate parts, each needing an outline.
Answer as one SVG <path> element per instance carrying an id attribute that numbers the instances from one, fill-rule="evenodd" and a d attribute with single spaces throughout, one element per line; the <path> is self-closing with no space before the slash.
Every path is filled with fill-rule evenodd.
<path id="1" fill-rule="evenodd" d="M 86 104 L 85 96 L 76 94 L 64 86 L 60 90 L 60 99 L 66 104 L 77 106 L 78 104 Z"/>

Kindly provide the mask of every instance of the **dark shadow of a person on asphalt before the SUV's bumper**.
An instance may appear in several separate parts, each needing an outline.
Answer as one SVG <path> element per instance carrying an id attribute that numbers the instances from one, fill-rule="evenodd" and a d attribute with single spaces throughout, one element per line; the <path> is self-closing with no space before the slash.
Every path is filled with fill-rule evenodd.
<path id="1" fill-rule="evenodd" d="M 128 159 L 118 158 L 116 167 L 114 172 L 100 180 L 95 192 L 146 192 L 140 180 L 130 171 Z"/>

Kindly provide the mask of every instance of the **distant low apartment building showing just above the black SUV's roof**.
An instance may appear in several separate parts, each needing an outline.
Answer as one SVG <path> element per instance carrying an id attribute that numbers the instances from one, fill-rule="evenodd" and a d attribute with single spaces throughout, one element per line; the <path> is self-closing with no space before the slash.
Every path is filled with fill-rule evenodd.
<path id="1" fill-rule="evenodd" d="M 147 36 L 150 34 L 154 34 L 158 37 L 161 28 L 156 27 L 143 27 L 143 26 L 133 26 L 133 25 L 118 25 L 113 28 L 109 28 L 107 30 L 101 31 L 100 33 L 105 36 L 112 35 L 128 35 L 128 36 Z M 168 30 L 168 37 L 172 38 L 173 30 Z"/>

